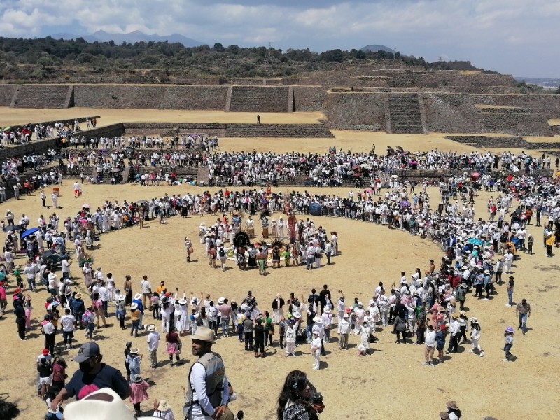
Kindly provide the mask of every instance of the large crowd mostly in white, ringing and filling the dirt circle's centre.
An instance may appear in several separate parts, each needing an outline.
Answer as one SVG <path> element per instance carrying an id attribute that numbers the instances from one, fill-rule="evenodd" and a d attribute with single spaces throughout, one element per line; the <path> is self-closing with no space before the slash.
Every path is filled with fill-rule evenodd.
<path id="1" fill-rule="evenodd" d="M 94 154 L 93 162 L 99 162 L 95 151 L 90 153 Z M 213 176 L 223 177 L 221 179 L 224 180 L 235 177 L 236 172 L 248 172 L 258 177 L 270 171 L 276 173 L 279 168 L 283 172 L 288 169 L 294 176 L 302 173 L 311 178 L 317 176 L 317 180 L 333 176 L 344 179 L 345 169 L 353 170 L 361 165 L 364 165 L 363 169 L 366 169 L 365 165 L 377 168 L 372 169 L 377 170 L 376 174 L 381 171 L 391 174 L 396 167 L 409 165 L 402 162 L 405 153 L 399 151 L 388 153 L 383 158 L 377 158 L 374 153 L 352 155 L 334 150 L 328 155 L 292 153 L 285 156 L 215 154 L 203 157 L 202 165 L 207 165 Z M 162 197 L 138 202 L 107 200 L 97 208 L 84 205 L 76 214 L 63 217 L 62 222 L 57 210 L 50 216 L 41 216 L 36 224 L 38 230 L 24 239 L 22 235 L 18 237 L 18 231 L 21 234 L 35 224 L 25 214 L 18 222 L 16 216 L 8 211 L 3 224 L 8 233 L 4 244 L 3 271 L 0 273 L 3 280 L 0 285 L 2 311 L 7 311 L 6 280 L 13 275 L 16 284 L 13 285 L 11 298 L 18 334 L 20 339 L 25 340 L 33 328 L 30 322 L 34 309 L 32 293 L 46 291 L 45 314 L 41 323 L 45 351 L 37 360 L 38 393 L 41 398 L 55 401 L 51 409 L 54 413 L 51 414 L 57 413 L 58 403 L 62 402 L 56 399 L 57 392 L 65 386 L 61 368 L 55 368 L 55 365 L 64 367 L 61 355 L 76 344 L 75 331 L 83 328 L 94 342 L 96 326 L 103 328 L 107 325 L 106 318 L 111 316 L 116 316 L 119 327 L 130 330 L 131 335 L 146 336 L 152 368 L 161 366 L 158 360 L 161 353 L 169 357 L 172 365 L 183 363 L 181 337 L 188 334 L 202 342 L 202 347 L 204 342 L 214 343 L 216 339 L 239 339 L 240 351 L 251 351 L 255 358 L 267 356 L 269 347 L 276 345 L 285 350 L 285 356 L 311 353 L 310 367 L 316 370 L 323 367 L 321 356 L 325 354 L 325 348 L 338 346 L 340 351 L 345 351 L 352 336 L 358 337 L 356 344 L 360 356 L 374 351 L 375 335 L 381 329 L 394 332 L 397 343 L 419 344 L 426 366 L 453 363 L 454 358 L 462 356 L 450 355 L 458 353 L 458 346 L 465 343 L 469 344 L 470 352 L 484 356 L 481 325 L 476 317 L 466 316 L 463 311 L 465 300 L 488 299 L 503 286 L 508 295 L 506 306 L 513 305 L 514 278 L 509 275 L 512 262 L 515 258 L 519 259 L 519 255 L 531 255 L 537 251 L 537 247 L 533 247 L 536 230 L 533 230 L 531 222 L 535 222 L 535 228 L 542 227 L 542 244 L 547 255 L 552 256 L 552 248 L 560 241 L 560 187 L 552 179 L 531 176 L 530 170 L 533 163 L 547 165 L 547 162 L 539 164 L 537 160 L 531 160 L 527 162 L 526 173 L 518 176 L 485 177 L 483 169 L 496 165 L 498 161 L 495 158 L 477 153 L 464 157 L 439 152 L 415 155 L 419 167 L 435 165 L 439 168 L 442 165 L 441 169 L 449 169 L 445 165 L 458 165 L 468 173 L 480 173 L 479 176 L 469 174 L 442 179 L 439 183 L 442 199 L 437 203 L 430 197 L 427 180 L 423 185 L 416 186 L 393 175 L 379 182 L 374 179 L 371 188 L 356 190 L 356 193 L 349 190 L 344 197 L 307 191 L 274 193 L 272 187 L 267 186 L 239 190 L 225 188 L 216 193 L 171 196 L 166 193 Z M 521 156 L 509 163 L 506 158 L 507 155 L 505 158 L 502 156 L 506 165 L 523 166 Z M 118 159 L 120 156 L 117 156 Z M 287 167 L 283 159 L 290 161 Z M 338 171 L 339 167 L 342 167 L 342 172 Z M 322 172 L 325 168 L 328 170 Z M 40 186 L 61 181 L 55 170 L 45 174 L 46 179 L 43 176 L 38 179 Z M 269 180 L 269 177 L 266 179 Z M 231 181 L 238 185 L 235 178 Z M 78 197 L 79 188 L 78 184 Z M 417 193 L 416 188 L 419 190 Z M 487 203 L 484 215 L 475 214 L 472 205 L 480 188 L 495 192 Z M 200 245 L 204 245 L 209 265 L 216 267 L 218 260 L 222 269 L 225 269 L 228 260 L 233 260 L 239 269 L 258 267 L 260 274 L 267 274 L 270 266 L 315 269 L 322 267 L 323 257 L 327 258 L 327 264 L 330 258 L 340 258 L 337 257 L 339 235 L 333 231 L 328 233 L 323 228 L 329 219 L 321 219 L 324 221 L 321 225 L 316 223 L 321 216 L 377 223 L 395 231 L 418 235 L 440 244 L 444 255 L 437 265 L 435 260 L 430 260 L 425 272 L 405 268 L 412 274 L 404 271 L 395 276 L 391 284 L 379 283 L 370 296 L 349 297 L 342 290 L 333 294 L 324 284 L 319 293 L 313 288 L 307 297 L 296 296 L 290 290 L 277 290 L 278 294 L 272 302 L 258 302 L 258 297 L 251 291 L 245 296 L 232 296 L 227 286 L 218 297 L 209 293 L 188 295 L 173 290 L 172 285 L 166 285 L 165 281 L 152 284 L 144 273 L 128 275 L 121 284 L 113 278 L 113 267 L 109 270 L 94 268 L 92 249 L 99 235 L 125 227 L 142 228 L 144 221 L 151 218 L 166 223 L 167 218 L 188 217 L 188 214 L 216 216 L 214 223 L 200 226 L 199 239 Z M 16 225 L 19 229 L 10 228 Z M 262 228 L 262 235 L 259 228 Z M 249 243 L 236 243 L 237 234 L 241 232 L 247 235 Z M 196 240 L 186 238 L 189 263 L 193 242 Z M 28 260 L 25 267 L 16 264 L 15 253 L 20 249 L 25 250 L 25 259 Z M 72 260 L 76 262 L 74 267 L 71 267 Z M 57 274 L 59 268 L 62 274 Z M 503 274 L 507 281 L 503 281 Z M 76 290 L 76 283 L 83 285 L 83 291 Z M 473 295 L 468 294 L 471 290 L 475 292 Z M 519 329 L 525 334 L 531 306 L 526 300 L 521 300 L 515 304 L 515 311 L 519 316 Z M 62 340 L 57 337 L 58 332 L 62 332 Z M 166 344 L 158 353 L 154 337 L 160 334 L 165 336 Z M 514 358 L 511 353 L 513 337 L 514 329 L 508 327 L 504 331 L 505 362 Z M 92 358 L 99 356 L 99 349 L 92 351 L 97 351 Z M 128 379 L 125 382 L 131 388 L 141 388 L 144 385 L 140 350 L 127 345 L 125 352 Z M 198 356 L 204 354 L 200 350 Z M 84 363 L 90 359 L 87 358 Z M 100 363 L 100 360 L 94 363 Z M 57 380 L 54 379 L 55 371 L 58 372 Z M 297 378 L 288 379 L 288 375 L 288 386 L 294 380 L 296 386 L 292 388 L 304 390 L 307 379 L 297 374 L 293 376 Z M 193 379 L 193 384 L 195 382 Z M 79 394 L 80 390 L 72 390 L 71 395 Z M 141 397 L 144 391 L 138 391 L 131 397 L 138 415 L 141 414 L 140 402 L 144 400 Z M 225 401 L 216 402 L 218 405 L 208 402 L 212 409 L 227 405 L 230 393 L 224 392 L 221 396 Z M 316 410 L 309 409 L 314 407 L 311 394 L 305 394 L 307 402 L 300 402 L 300 408 L 288 404 L 288 400 L 296 396 L 290 393 L 284 395 L 286 402 L 284 407 L 281 407 L 282 404 L 279 407 L 279 419 L 298 419 L 299 409 L 306 409 L 309 418 L 318 414 Z M 301 399 L 301 395 L 298 398 Z M 225 409 L 222 411 L 225 412 Z"/>

